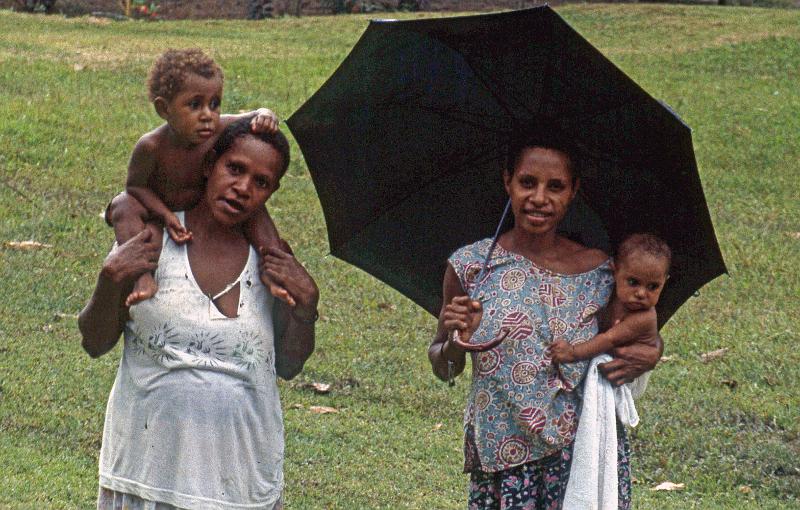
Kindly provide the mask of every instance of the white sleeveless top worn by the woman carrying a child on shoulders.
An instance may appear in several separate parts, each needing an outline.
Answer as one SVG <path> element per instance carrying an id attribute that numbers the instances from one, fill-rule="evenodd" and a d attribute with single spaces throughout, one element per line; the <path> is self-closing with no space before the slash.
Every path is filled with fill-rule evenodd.
<path id="1" fill-rule="evenodd" d="M 276 508 L 283 418 L 273 297 L 259 279 L 255 250 L 237 280 L 236 318 L 203 294 L 186 246 L 166 235 L 155 278 L 158 292 L 131 307 L 125 326 L 100 450 L 98 507 L 119 504 L 124 493 L 178 508 Z"/>

